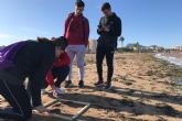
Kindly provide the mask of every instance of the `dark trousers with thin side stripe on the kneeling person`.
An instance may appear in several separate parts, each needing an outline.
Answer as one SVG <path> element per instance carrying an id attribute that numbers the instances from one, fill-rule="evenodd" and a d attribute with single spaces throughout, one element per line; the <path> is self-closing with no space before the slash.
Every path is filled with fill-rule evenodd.
<path id="1" fill-rule="evenodd" d="M 24 86 L 10 85 L 0 80 L 0 95 L 10 103 L 12 110 L 0 109 L 0 119 L 26 121 L 32 116 L 30 98 Z"/>

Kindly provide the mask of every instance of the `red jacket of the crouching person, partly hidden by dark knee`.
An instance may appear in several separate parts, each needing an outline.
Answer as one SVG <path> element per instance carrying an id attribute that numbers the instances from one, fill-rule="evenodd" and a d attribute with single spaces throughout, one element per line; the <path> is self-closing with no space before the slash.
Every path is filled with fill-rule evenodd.
<path id="1" fill-rule="evenodd" d="M 61 56 L 58 58 L 55 59 L 53 66 L 54 67 L 69 66 L 69 64 L 71 64 L 69 56 L 67 55 L 66 52 L 64 52 L 63 54 L 61 54 Z M 50 69 L 47 75 L 46 75 L 46 82 L 50 86 L 54 85 L 54 77 L 53 77 L 53 74 L 52 74 L 52 69 Z"/>

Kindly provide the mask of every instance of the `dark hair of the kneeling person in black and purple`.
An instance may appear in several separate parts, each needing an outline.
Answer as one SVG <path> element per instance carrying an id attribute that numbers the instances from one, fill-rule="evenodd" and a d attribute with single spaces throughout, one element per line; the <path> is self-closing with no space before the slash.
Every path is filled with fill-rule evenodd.
<path id="1" fill-rule="evenodd" d="M 67 40 L 64 36 L 54 37 L 52 40 L 49 40 L 46 37 L 38 37 L 36 41 L 40 42 L 40 43 L 47 43 L 47 42 L 50 42 L 50 43 L 53 43 L 55 46 L 62 46 L 63 50 L 65 50 L 67 47 L 67 45 L 68 45 Z"/>

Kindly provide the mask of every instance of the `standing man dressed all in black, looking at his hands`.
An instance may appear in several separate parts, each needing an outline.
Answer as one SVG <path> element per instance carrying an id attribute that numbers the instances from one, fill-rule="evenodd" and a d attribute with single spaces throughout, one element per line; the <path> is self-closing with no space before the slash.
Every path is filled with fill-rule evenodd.
<path id="1" fill-rule="evenodd" d="M 111 7 L 108 2 L 103 4 L 101 11 L 105 16 L 100 19 L 97 30 L 97 33 L 100 36 L 98 38 L 96 53 L 98 81 L 95 85 L 97 87 L 104 86 L 103 61 L 106 56 L 108 68 L 105 89 L 109 89 L 111 88 L 111 78 L 114 74 L 114 54 L 117 47 L 118 36 L 121 35 L 121 20 L 111 11 Z"/>

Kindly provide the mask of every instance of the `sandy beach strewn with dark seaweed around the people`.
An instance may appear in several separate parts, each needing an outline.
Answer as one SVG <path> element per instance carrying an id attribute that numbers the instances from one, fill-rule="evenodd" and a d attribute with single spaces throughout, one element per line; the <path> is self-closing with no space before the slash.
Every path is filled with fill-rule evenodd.
<path id="1" fill-rule="evenodd" d="M 104 64 L 106 72 L 106 64 Z M 74 85 L 77 86 L 77 67 L 74 67 Z M 106 77 L 106 73 L 105 73 Z M 106 78 L 105 78 L 106 79 Z M 66 89 L 64 99 L 90 102 L 83 121 L 182 121 L 182 68 L 157 59 L 152 54 L 116 54 L 113 89 L 94 87 L 97 80 L 95 55 L 86 55 L 84 89 Z M 42 96 L 44 103 L 53 100 L 51 94 Z M 7 106 L 0 98 L 0 107 Z M 82 107 L 56 103 L 52 112 L 72 116 Z M 34 114 L 31 121 L 61 121 L 47 116 Z"/>

